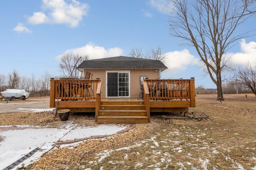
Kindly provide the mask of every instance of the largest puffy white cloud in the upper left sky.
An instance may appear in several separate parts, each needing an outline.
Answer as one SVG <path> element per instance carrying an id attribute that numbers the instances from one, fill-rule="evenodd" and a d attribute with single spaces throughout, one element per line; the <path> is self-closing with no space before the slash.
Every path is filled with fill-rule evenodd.
<path id="1" fill-rule="evenodd" d="M 43 12 L 34 12 L 28 18 L 30 24 L 66 23 L 77 27 L 83 16 L 86 16 L 89 6 L 76 0 L 68 4 L 65 0 L 43 0 Z"/>

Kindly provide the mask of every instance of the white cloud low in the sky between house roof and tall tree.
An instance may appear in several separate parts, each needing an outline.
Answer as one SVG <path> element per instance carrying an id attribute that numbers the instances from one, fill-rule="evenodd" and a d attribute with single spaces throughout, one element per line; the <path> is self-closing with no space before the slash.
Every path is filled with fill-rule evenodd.
<path id="1" fill-rule="evenodd" d="M 164 72 L 168 74 L 167 76 L 173 76 L 181 70 L 186 70 L 188 66 L 198 64 L 198 59 L 191 55 L 188 49 L 168 52 L 165 55 L 167 55 L 166 66 L 168 69 Z"/>

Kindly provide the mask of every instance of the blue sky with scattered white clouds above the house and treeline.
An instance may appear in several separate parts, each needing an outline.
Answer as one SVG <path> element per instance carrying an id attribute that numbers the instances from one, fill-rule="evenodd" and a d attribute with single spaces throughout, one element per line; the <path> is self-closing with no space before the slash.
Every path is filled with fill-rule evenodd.
<path id="1" fill-rule="evenodd" d="M 0 6 L 0 74 L 60 75 L 64 53 L 90 59 L 128 56 L 132 48 L 161 47 L 168 55 L 162 78 L 195 77 L 196 86 L 216 88 L 200 70 L 193 48 L 169 35 L 168 0 L 5 0 Z M 255 18 L 254 18 L 255 19 Z M 243 29 L 255 27 L 248 22 Z M 256 61 L 256 36 L 238 42 L 229 53 L 234 67 Z"/>

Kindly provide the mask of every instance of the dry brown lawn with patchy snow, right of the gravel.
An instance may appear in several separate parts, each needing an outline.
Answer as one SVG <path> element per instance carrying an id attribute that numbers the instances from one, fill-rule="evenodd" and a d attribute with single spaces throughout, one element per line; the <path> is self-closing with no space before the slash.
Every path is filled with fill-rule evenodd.
<path id="1" fill-rule="evenodd" d="M 222 103 L 198 97 L 191 109 L 209 119 L 169 121 L 140 141 L 84 158 L 77 169 L 256 169 L 255 102 L 253 96 L 226 96 Z"/>

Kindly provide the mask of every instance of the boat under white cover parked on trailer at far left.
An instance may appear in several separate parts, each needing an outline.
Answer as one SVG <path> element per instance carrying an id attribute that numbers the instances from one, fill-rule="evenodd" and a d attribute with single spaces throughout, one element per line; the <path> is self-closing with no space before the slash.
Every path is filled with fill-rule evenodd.
<path id="1" fill-rule="evenodd" d="M 1 92 L 3 98 L 7 100 L 26 100 L 29 96 L 29 92 L 26 92 L 24 89 L 6 89 L 5 91 Z"/>

